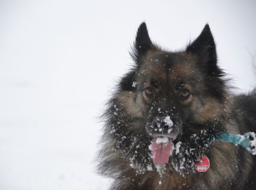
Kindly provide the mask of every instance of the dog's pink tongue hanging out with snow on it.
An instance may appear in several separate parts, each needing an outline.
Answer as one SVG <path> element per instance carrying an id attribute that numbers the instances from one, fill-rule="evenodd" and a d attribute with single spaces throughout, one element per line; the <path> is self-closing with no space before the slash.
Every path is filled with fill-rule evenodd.
<path id="1" fill-rule="evenodd" d="M 159 141 L 159 140 L 158 140 Z M 158 142 L 157 138 L 155 137 L 152 143 L 152 152 L 153 152 L 153 161 L 158 164 L 167 163 L 169 160 L 169 155 L 172 150 L 172 140 L 168 139 L 167 142 Z"/>

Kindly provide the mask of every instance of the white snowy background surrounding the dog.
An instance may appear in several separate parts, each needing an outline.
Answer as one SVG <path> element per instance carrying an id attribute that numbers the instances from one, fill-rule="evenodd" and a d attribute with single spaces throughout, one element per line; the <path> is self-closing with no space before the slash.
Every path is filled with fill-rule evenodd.
<path id="1" fill-rule="evenodd" d="M 0 1 L 0 189 L 106 190 L 92 159 L 97 122 L 145 21 L 185 47 L 205 23 L 242 92 L 255 86 L 256 1 Z"/>

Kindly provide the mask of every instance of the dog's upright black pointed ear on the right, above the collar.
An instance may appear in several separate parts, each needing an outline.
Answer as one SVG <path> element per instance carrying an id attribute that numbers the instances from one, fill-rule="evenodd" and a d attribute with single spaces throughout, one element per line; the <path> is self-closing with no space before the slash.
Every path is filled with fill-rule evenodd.
<path id="1" fill-rule="evenodd" d="M 196 40 L 188 45 L 186 51 L 196 54 L 200 58 L 200 66 L 203 66 L 209 75 L 219 74 L 216 46 L 208 24 L 205 25 Z"/>

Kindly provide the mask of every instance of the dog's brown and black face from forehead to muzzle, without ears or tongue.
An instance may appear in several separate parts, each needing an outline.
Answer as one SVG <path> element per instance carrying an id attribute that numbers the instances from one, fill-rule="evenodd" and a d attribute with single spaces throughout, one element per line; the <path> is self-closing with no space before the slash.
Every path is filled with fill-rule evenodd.
<path id="1" fill-rule="evenodd" d="M 192 56 L 155 51 L 142 60 L 137 94 L 150 135 L 165 134 L 175 139 L 184 123 L 197 120 L 195 110 L 202 107 L 205 88 L 195 59 L 189 58 Z"/>

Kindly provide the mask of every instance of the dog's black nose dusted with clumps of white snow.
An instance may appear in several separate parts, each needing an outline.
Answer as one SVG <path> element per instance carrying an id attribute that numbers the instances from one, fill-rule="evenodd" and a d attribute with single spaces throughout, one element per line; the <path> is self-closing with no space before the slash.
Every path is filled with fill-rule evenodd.
<path id="1" fill-rule="evenodd" d="M 152 121 L 151 131 L 152 133 L 170 134 L 172 131 L 173 122 L 170 116 L 156 117 Z"/>

